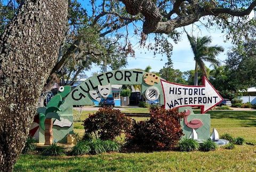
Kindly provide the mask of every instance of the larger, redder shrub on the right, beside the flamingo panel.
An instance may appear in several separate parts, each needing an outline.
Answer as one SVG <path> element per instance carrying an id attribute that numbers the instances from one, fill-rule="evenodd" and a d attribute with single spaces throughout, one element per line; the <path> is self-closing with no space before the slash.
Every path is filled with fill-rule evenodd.
<path id="1" fill-rule="evenodd" d="M 170 150 L 177 145 L 183 135 L 180 121 L 184 113 L 178 109 L 150 109 L 150 119 L 135 122 L 126 133 L 127 147 L 147 151 Z"/>

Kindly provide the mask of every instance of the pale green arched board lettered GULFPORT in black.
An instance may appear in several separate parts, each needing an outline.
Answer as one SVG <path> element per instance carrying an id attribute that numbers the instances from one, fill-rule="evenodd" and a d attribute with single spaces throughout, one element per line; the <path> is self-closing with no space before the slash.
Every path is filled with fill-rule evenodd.
<path id="1" fill-rule="evenodd" d="M 89 91 L 95 90 L 98 88 L 98 85 L 108 85 L 112 84 L 129 84 L 129 85 L 142 85 L 142 93 L 145 93 L 147 88 L 151 87 L 151 85 L 146 84 L 143 81 L 143 75 L 147 73 L 145 71 L 138 70 L 115 70 L 105 72 L 96 76 L 92 76 L 86 81 L 79 84 L 73 91 L 71 91 L 63 106 L 71 105 L 92 105 L 93 102 L 91 100 Z M 154 85 L 159 89 L 161 93 L 160 102 L 164 104 L 163 91 L 161 87 L 161 83 L 156 83 Z"/>

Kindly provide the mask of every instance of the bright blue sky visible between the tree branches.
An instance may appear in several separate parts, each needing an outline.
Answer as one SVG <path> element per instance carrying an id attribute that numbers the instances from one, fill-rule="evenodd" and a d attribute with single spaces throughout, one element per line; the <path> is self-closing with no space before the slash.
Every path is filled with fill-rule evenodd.
<path id="1" fill-rule="evenodd" d="M 79 1 L 79 0 L 78 0 Z M 87 10 L 90 10 L 88 6 L 86 5 L 88 2 L 80 0 L 80 2 L 83 4 Z M 89 12 L 90 13 L 90 12 Z M 251 17 L 254 16 L 253 13 L 251 14 Z M 138 23 L 139 24 L 139 23 Z M 186 27 L 187 31 L 190 31 L 192 28 L 191 25 Z M 132 30 L 132 29 L 131 29 Z M 179 31 L 179 30 L 178 30 Z M 220 30 L 206 30 L 206 28 L 201 27 L 200 30 L 193 30 L 193 35 L 194 36 L 211 36 L 212 38 L 212 45 L 220 45 L 223 48 L 225 48 L 225 51 L 217 56 L 217 58 L 223 62 L 227 58 L 227 51 L 229 48 L 232 46 L 230 41 L 225 42 L 225 35 L 224 33 L 221 33 Z M 132 43 L 136 44 L 139 40 L 135 40 L 132 38 L 131 40 Z M 173 51 L 172 51 L 172 61 L 173 61 L 173 68 L 179 69 L 180 71 L 188 71 L 188 70 L 194 70 L 195 68 L 195 62 L 193 59 L 193 53 L 191 51 L 188 39 L 186 34 L 182 35 L 181 41 L 178 42 L 178 44 L 173 45 Z M 138 46 L 134 46 L 138 47 Z M 127 69 L 132 69 L 132 68 L 145 68 L 146 66 L 150 65 L 152 67 L 151 71 L 156 71 L 158 72 L 164 64 L 167 62 L 167 57 L 164 55 L 159 55 L 157 54 L 156 57 L 154 57 L 153 51 L 149 51 L 147 49 L 142 49 L 142 48 L 135 48 L 135 58 L 129 57 L 128 58 L 128 65 L 125 67 Z M 162 59 L 162 61 L 161 61 Z M 223 63 L 222 63 L 223 64 Z M 209 63 L 206 63 L 208 67 L 210 67 Z M 108 68 L 108 70 L 110 70 Z M 91 76 L 93 72 L 99 72 L 100 67 L 98 66 L 93 66 L 90 71 L 85 72 L 87 76 Z"/>

